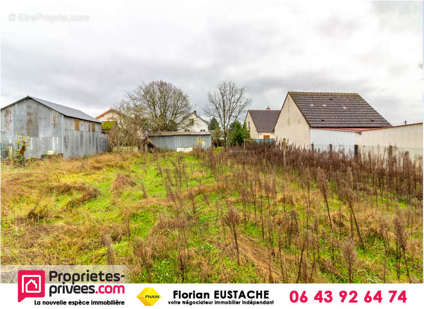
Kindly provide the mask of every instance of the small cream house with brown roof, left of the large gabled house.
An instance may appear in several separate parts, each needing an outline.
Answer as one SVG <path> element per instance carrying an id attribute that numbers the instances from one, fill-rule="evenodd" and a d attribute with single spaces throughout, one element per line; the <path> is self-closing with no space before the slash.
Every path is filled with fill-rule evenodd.
<path id="1" fill-rule="evenodd" d="M 251 133 L 251 138 L 275 138 L 274 126 L 279 114 L 280 110 L 271 110 L 269 106 L 265 110 L 248 110 L 244 123 Z"/>

